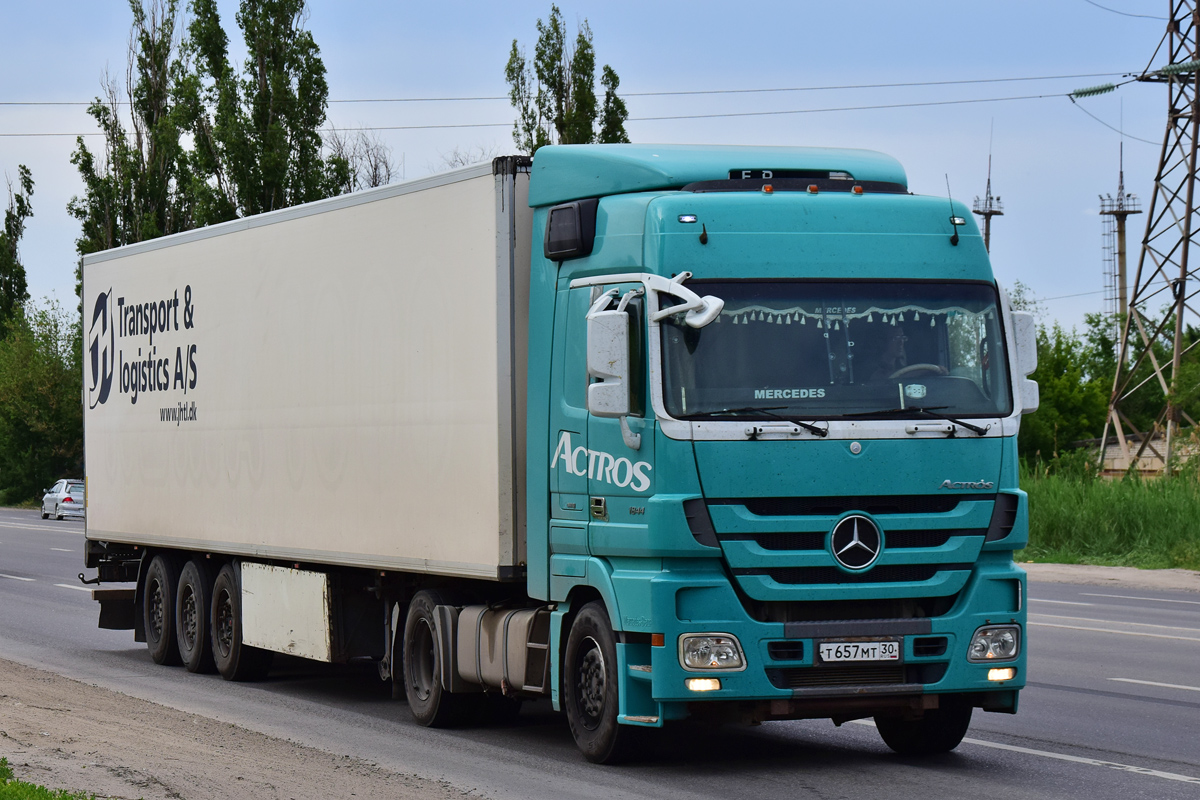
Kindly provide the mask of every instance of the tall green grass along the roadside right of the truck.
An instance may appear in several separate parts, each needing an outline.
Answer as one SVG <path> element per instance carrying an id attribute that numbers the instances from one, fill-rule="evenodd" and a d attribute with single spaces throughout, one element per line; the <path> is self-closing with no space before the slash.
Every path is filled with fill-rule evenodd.
<path id="1" fill-rule="evenodd" d="M 1096 456 L 1063 453 L 1021 470 L 1030 546 L 1018 560 L 1200 570 L 1200 480 L 1097 476 Z"/>

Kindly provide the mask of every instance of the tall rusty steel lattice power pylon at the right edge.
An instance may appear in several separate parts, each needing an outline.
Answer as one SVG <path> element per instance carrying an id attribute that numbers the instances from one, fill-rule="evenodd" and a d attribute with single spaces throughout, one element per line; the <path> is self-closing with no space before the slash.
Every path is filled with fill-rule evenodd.
<path id="1" fill-rule="evenodd" d="M 1186 318 L 1198 321 L 1194 297 L 1200 273 L 1193 275 L 1192 245 L 1200 235 L 1196 216 L 1196 140 L 1200 130 L 1200 12 L 1196 0 L 1169 0 L 1166 34 L 1159 49 L 1166 48 L 1168 65 L 1147 68 L 1138 77 L 1146 83 L 1166 85 L 1168 113 L 1163 150 L 1154 176 L 1154 193 L 1146 213 L 1146 235 L 1141 242 L 1133 294 L 1121 326 L 1121 356 L 1117 360 L 1104 423 L 1116 433 L 1122 461 L 1138 467 L 1147 451 L 1170 470 L 1172 440 L 1183 421 L 1195 426 L 1178 403 L 1180 366 L 1184 354 Z M 1192 349 L 1200 341 L 1187 345 Z M 1168 348 L 1170 348 L 1168 353 Z M 1166 360 L 1169 357 L 1169 361 Z M 1162 407 L 1148 431 L 1139 431 L 1124 408 L 1130 398 L 1153 392 Z M 1160 392 L 1160 395 L 1158 395 Z M 1127 434 L 1134 434 L 1129 437 Z M 1140 439 L 1134 452 L 1130 438 Z M 1160 438 L 1163 446 L 1154 440 Z M 1104 447 L 1100 451 L 1103 465 Z"/>

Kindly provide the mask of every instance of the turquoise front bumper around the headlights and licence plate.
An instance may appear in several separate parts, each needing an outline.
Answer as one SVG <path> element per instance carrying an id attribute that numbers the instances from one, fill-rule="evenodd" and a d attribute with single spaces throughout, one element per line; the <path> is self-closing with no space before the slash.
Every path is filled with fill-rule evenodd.
<path id="1" fill-rule="evenodd" d="M 941 616 L 812 622 L 755 620 L 744 612 L 719 565 L 703 569 L 680 564 L 680 570 L 665 570 L 650 581 L 652 619 L 662 628 L 664 646 L 625 644 L 626 684 L 635 696 L 641 693 L 643 699 L 659 704 L 666 718 L 685 716 L 689 705 L 695 709 L 696 704 L 748 700 L 761 702 L 757 716 L 762 718 L 841 712 L 870 716 L 871 709 L 895 708 L 901 698 L 913 708 L 934 708 L 936 700 L 919 698 L 942 693 L 977 694 L 977 705 L 1015 711 L 1016 692 L 1025 685 L 1025 572 L 1008 553 L 989 555 L 977 563 L 950 610 Z M 1020 626 L 1018 657 L 968 662 L 967 645 L 974 631 L 998 624 Z M 678 655 L 679 637 L 701 632 L 737 637 L 745 667 L 684 669 Z M 898 640 L 900 658 L 821 662 L 821 642 L 856 639 Z M 996 667 L 1014 668 L 1014 678 L 989 680 L 989 669 Z M 690 691 L 686 680 L 697 676 L 718 678 L 720 688 Z"/>

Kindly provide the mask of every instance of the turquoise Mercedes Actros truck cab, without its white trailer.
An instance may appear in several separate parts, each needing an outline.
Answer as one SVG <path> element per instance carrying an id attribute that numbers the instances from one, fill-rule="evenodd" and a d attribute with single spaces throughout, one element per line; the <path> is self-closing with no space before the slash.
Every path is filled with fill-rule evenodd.
<path id="1" fill-rule="evenodd" d="M 529 205 L 528 594 L 584 754 L 1015 712 L 1036 351 L 968 210 L 877 152 L 665 145 L 542 148 Z"/>

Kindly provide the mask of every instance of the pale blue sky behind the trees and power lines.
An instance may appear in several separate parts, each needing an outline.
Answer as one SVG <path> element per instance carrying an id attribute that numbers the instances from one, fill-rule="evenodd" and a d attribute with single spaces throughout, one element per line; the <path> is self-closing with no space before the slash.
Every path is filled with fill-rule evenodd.
<path id="1" fill-rule="evenodd" d="M 1114 77 L 1079 77 L 936 86 L 848 89 L 862 84 L 1043 78 L 1140 72 L 1163 36 L 1165 0 L 1042 2 L 755 2 L 642 0 L 560 2 L 574 30 L 589 22 L 599 64 L 622 79 L 635 142 L 851 146 L 898 157 L 913 191 L 950 190 L 970 203 L 984 193 L 989 136 L 992 190 L 1006 213 L 994 222 L 992 263 L 1006 284 L 1021 281 L 1050 299 L 1044 319 L 1078 325 L 1103 308 L 1100 193 L 1114 193 L 1121 137 L 1063 95 Z M 236 46 L 235 1 L 220 2 Z M 514 38 L 533 52 L 534 23 L 550 2 L 378 2 L 313 0 L 308 28 L 328 70 L 331 100 L 476 97 L 506 94 L 503 70 Z M 1116 12 L 1126 12 L 1124 14 Z M 106 68 L 124 79 L 131 16 L 120 0 L 0 0 L 0 102 L 88 101 Z M 1159 55 L 1153 66 L 1162 66 Z M 815 89 L 815 88 L 840 89 Z M 728 89 L 751 94 L 644 96 Z M 1031 95 L 1037 100 L 942 106 L 848 108 Z M 1082 108 L 1132 137 L 1126 188 L 1151 199 L 1165 126 L 1166 90 L 1130 84 L 1082 100 Z M 804 112 L 686 120 L 637 118 Z M 455 148 L 512 151 L 506 101 L 334 103 L 338 127 L 504 124 L 384 131 L 407 178 L 442 164 Z M 0 104 L 0 133 L 95 128 L 83 107 Z M 991 133 L 990 133 L 991 132 Z M 98 139 L 89 139 L 91 143 Z M 71 137 L 0 137 L 0 172 L 34 174 L 35 217 L 22 242 L 34 297 L 74 305 L 78 223 L 66 204 L 82 185 L 70 163 Z M 1136 261 L 1146 215 L 1130 219 Z M 1133 264 L 1130 265 L 1130 270 Z M 1063 296 L 1081 295 L 1081 296 Z"/>

